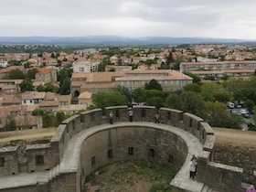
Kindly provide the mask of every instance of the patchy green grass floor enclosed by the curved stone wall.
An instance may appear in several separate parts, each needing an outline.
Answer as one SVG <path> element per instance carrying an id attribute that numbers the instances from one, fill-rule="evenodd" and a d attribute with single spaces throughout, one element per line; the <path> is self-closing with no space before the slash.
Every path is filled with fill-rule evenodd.
<path id="1" fill-rule="evenodd" d="M 104 175 L 105 173 L 107 176 Z M 150 188 L 150 192 L 169 192 L 171 191 L 170 181 L 175 176 L 174 169 L 155 161 L 122 161 L 100 167 L 86 176 L 84 187 L 86 191 L 89 186 L 98 185 L 102 189 L 105 185 L 110 190 L 113 189 L 112 187 L 125 185 L 133 187 L 134 184 L 144 181 Z"/>

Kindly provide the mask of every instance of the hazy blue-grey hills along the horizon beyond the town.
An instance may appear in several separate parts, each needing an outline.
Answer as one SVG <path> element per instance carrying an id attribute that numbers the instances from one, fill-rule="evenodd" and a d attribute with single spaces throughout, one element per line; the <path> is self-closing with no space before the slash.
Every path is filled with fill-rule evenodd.
<path id="1" fill-rule="evenodd" d="M 210 37 L 118 37 L 118 36 L 86 36 L 86 37 L 0 37 L 0 45 L 62 45 L 62 46 L 149 46 L 180 45 L 209 43 L 248 43 L 256 44 L 256 40 L 248 41 L 236 38 Z"/>

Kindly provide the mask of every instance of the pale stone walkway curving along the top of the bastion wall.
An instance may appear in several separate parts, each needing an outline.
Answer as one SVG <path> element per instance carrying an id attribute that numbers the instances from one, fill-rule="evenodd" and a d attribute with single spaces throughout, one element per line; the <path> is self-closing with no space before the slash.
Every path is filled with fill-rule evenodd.
<path id="1" fill-rule="evenodd" d="M 174 126 L 166 124 L 155 124 L 155 123 L 144 123 L 144 122 L 133 122 L 133 123 L 114 123 L 114 124 L 101 124 L 94 126 L 90 129 L 86 129 L 75 136 L 73 136 L 67 145 L 67 148 L 64 152 L 63 158 L 59 165 L 59 173 L 66 172 L 76 172 L 79 158 L 80 158 L 80 148 L 82 142 L 89 137 L 92 133 L 98 133 L 103 130 L 108 130 L 111 128 L 122 128 L 122 127 L 149 127 L 149 128 L 158 128 L 165 131 L 170 131 L 176 133 L 187 143 L 187 159 L 185 164 L 181 167 L 180 171 L 177 173 L 174 183 L 180 183 L 181 185 L 188 184 L 191 191 L 200 191 L 200 188 L 203 187 L 203 184 L 198 183 L 197 181 L 192 181 L 188 179 L 189 177 L 189 162 L 190 157 L 194 155 L 199 155 L 203 146 L 200 144 L 199 140 L 186 131 L 176 128 Z M 40 182 L 48 182 L 49 172 L 37 172 L 37 173 L 22 173 L 15 176 L 1 176 L 0 177 L 0 189 L 8 187 L 23 187 L 29 185 L 36 185 Z M 183 181 L 183 182 L 180 182 Z"/>

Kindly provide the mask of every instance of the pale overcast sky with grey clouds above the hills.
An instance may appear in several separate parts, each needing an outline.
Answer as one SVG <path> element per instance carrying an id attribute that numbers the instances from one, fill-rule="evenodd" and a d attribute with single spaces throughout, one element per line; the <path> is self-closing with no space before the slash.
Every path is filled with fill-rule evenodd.
<path id="1" fill-rule="evenodd" d="M 0 37 L 256 39 L 256 0 L 6 0 Z"/>

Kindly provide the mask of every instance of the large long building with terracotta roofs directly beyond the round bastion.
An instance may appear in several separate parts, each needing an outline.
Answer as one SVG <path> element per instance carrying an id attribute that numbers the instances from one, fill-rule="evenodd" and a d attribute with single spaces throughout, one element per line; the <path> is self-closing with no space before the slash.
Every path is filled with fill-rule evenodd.
<path id="1" fill-rule="evenodd" d="M 70 91 L 72 99 L 78 99 L 81 92 L 112 91 L 118 85 L 131 91 L 144 88 L 144 84 L 153 79 L 162 85 L 164 91 L 182 90 L 183 86 L 193 82 L 192 78 L 172 69 L 85 72 L 72 74 Z"/>

